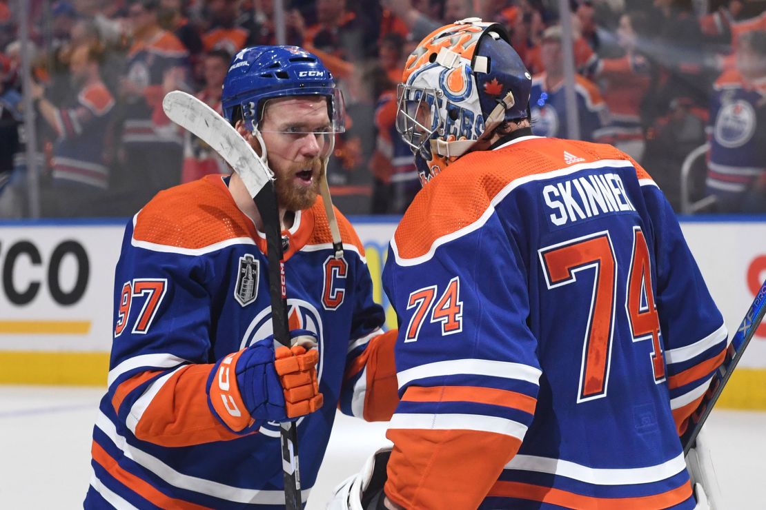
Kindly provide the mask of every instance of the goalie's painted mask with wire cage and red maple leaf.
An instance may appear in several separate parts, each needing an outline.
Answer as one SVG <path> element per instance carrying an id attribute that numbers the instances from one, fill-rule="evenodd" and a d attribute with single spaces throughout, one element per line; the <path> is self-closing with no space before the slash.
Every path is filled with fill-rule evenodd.
<path id="1" fill-rule="evenodd" d="M 421 184 L 488 140 L 501 122 L 528 117 L 531 88 L 501 25 L 466 18 L 429 34 L 404 66 L 396 119 Z"/>

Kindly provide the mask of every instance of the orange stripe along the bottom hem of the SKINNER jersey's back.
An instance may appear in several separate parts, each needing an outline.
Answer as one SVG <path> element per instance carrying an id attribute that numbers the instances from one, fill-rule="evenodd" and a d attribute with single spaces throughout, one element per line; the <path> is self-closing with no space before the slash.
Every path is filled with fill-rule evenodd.
<path id="1" fill-rule="evenodd" d="M 683 486 L 676 489 L 637 498 L 594 498 L 552 487 L 535 486 L 530 483 L 499 481 L 487 495 L 531 499 L 565 508 L 582 508 L 583 510 L 590 508 L 595 510 L 598 508 L 644 510 L 644 508 L 668 508 L 686 501 L 692 495 L 692 485 L 687 481 Z"/>

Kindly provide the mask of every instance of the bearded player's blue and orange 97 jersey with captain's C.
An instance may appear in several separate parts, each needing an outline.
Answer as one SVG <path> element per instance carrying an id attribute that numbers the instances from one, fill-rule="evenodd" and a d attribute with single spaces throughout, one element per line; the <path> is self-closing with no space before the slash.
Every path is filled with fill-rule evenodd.
<path id="1" fill-rule="evenodd" d="M 364 250 L 336 214 L 341 259 L 320 198 L 283 232 L 290 328 L 318 336 L 324 395 L 297 422 L 304 501 L 336 407 L 387 420 L 396 401 L 395 331 L 382 333 Z M 221 176 L 159 193 L 127 226 L 86 508 L 284 507 L 277 424 L 235 434 L 205 390 L 218 359 L 272 333 L 265 249 Z"/>

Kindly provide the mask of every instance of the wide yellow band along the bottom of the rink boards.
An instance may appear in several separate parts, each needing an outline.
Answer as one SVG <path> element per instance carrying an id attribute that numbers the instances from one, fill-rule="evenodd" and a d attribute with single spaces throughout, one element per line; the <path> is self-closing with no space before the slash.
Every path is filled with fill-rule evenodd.
<path id="1" fill-rule="evenodd" d="M 0 384 L 106 386 L 108 352 L 0 351 Z M 766 369 L 736 369 L 716 404 L 766 410 Z"/>

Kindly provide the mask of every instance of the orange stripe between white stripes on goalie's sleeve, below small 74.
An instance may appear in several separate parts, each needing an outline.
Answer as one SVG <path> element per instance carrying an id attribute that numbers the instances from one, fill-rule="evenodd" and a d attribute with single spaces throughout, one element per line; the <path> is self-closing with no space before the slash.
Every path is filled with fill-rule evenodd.
<path id="1" fill-rule="evenodd" d="M 407 391 L 404 391 L 401 400 L 412 402 L 476 402 L 478 404 L 502 405 L 529 414 L 535 414 L 535 406 L 537 405 L 536 398 L 523 393 L 477 386 L 433 386 L 430 388 L 410 386 Z"/>

